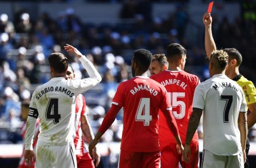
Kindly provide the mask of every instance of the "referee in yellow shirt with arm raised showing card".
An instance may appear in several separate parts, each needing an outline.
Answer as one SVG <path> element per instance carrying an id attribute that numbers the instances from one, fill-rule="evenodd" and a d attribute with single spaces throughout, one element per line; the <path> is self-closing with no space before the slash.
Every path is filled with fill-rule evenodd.
<path id="1" fill-rule="evenodd" d="M 206 13 L 203 16 L 203 23 L 205 26 L 205 38 L 204 38 L 204 45 L 206 49 L 207 57 L 210 59 L 211 52 L 217 50 L 216 45 L 213 39 L 213 34 L 211 31 L 211 23 L 212 18 L 210 13 Z M 235 48 L 225 48 L 225 52 L 228 53 L 228 68 L 225 72 L 225 74 L 234 81 L 237 82 L 239 86 L 242 87 L 244 95 L 246 97 L 247 102 L 247 110 L 249 107 L 249 115 L 247 118 L 248 122 L 248 129 L 250 129 L 255 123 L 256 123 L 256 89 L 254 84 L 246 79 L 243 75 L 239 72 L 239 66 L 242 63 L 242 55 L 240 52 Z M 247 138 L 246 141 L 246 148 L 245 153 L 248 155 L 250 148 L 249 139 Z M 246 162 L 244 164 L 245 168 L 249 168 L 249 160 L 246 159 Z"/>

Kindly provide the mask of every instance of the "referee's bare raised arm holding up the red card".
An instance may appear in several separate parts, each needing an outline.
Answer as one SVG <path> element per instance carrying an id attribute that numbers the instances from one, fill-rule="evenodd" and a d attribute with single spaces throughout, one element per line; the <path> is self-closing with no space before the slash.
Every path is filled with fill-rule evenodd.
<path id="1" fill-rule="evenodd" d="M 204 36 L 204 47 L 206 49 L 206 55 L 210 59 L 211 52 L 217 50 L 214 39 L 213 39 L 213 33 L 211 31 L 211 23 L 212 18 L 210 13 L 205 13 L 203 15 L 203 23 L 205 26 L 205 36 Z"/>

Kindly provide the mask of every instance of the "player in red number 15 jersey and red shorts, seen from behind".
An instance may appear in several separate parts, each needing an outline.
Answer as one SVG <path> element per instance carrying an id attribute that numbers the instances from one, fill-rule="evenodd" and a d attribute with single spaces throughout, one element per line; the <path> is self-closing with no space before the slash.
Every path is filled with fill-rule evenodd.
<path id="1" fill-rule="evenodd" d="M 172 112 L 175 117 L 182 144 L 185 144 L 188 121 L 192 113 L 193 95 L 196 86 L 200 83 L 197 76 L 183 71 L 186 62 L 186 49 L 182 45 L 172 43 L 167 46 L 167 60 L 169 68 L 151 79 L 162 84 L 169 96 Z M 182 154 L 178 153 L 176 142 L 168 129 L 166 118 L 159 112 L 159 141 L 161 150 L 161 168 L 177 168 L 180 162 L 183 168 L 197 168 L 199 161 L 198 134 L 193 136 L 190 143 L 191 162 L 182 161 Z"/>

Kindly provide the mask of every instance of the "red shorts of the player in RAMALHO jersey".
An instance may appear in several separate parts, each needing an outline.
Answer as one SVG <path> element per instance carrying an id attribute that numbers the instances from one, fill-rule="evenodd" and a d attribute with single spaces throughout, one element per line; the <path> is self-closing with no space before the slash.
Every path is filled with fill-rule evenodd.
<path id="1" fill-rule="evenodd" d="M 119 168 L 159 168 L 160 154 L 157 152 L 120 152 Z"/>

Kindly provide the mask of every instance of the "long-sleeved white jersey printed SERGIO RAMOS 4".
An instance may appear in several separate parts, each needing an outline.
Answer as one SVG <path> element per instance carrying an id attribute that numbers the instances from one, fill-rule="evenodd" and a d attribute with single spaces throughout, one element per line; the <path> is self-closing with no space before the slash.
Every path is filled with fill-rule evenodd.
<path id="1" fill-rule="evenodd" d="M 100 74 L 85 56 L 81 57 L 80 61 L 89 73 L 89 78 L 75 80 L 66 80 L 63 77 L 52 78 L 39 86 L 32 95 L 27 131 L 31 132 L 31 126 L 28 125 L 33 125 L 35 118 L 39 117 L 40 144 L 58 146 L 73 141 L 76 97 L 101 81 Z M 27 133 L 26 149 L 31 149 L 33 136 Z"/>

